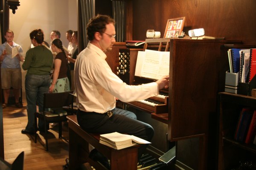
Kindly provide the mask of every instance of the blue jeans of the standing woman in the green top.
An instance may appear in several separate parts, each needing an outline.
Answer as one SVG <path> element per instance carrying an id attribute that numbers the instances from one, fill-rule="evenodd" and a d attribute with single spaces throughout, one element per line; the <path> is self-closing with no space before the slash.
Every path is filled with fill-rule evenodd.
<path id="1" fill-rule="evenodd" d="M 49 93 L 49 87 L 51 83 L 50 75 L 35 75 L 26 74 L 25 78 L 25 90 L 27 101 L 27 113 L 28 124 L 26 125 L 26 131 L 35 131 L 35 117 L 36 104 L 38 103 L 39 111 L 43 111 L 44 106 L 44 94 Z M 38 120 L 39 129 L 44 129 L 44 121 Z"/>

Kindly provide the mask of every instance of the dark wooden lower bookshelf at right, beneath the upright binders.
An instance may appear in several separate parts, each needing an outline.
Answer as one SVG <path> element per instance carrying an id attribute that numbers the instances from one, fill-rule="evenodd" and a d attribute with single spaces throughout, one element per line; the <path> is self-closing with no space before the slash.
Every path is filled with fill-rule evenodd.
<path id="1" fill-rule="evenodd" d="M 241 109 L 249 107 L 255 110 L 256 97 L 221 92 L 218 100 L 218 170 L 236 169 L 243 161 L 256 164 L 256 145 L 234 139 Z"/>

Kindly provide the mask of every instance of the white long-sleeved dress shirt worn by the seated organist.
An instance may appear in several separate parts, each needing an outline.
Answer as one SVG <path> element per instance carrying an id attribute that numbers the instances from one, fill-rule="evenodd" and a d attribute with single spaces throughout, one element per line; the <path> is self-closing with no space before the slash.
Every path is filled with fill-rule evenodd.
<path id="1" fill-rule="evenodd" d="M 156 82 L 127 85 L 111 71 L 106 57 L 101 49 L 90 42 L 78 55 L 74 81 L 79 110 L 105 113 L 116 107 L 116 98 L 131 102 L 159 94 Z"/>

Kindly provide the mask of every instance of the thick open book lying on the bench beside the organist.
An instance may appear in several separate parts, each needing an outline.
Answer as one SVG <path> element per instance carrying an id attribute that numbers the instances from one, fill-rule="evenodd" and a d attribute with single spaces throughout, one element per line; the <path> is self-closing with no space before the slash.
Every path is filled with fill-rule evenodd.
<path id="1" fill-rule="evenodd" d="M 150 144 L 151 142 L 133 135 L 113 132 L 100 135 L 99 143 L 113 147 L 116 150 L 120 150 L 126 147 L 134 146 L 136 144 Z"/>

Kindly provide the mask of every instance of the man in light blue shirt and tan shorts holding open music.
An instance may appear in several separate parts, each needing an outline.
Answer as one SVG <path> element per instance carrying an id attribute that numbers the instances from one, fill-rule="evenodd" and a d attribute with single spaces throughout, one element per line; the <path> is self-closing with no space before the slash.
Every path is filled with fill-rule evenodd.
<path id="1" fill-rule="evenodd" d="M 20 45 L 13 42 L 14 33 L 12 30 L 8 29 L 4 37 L 6 42 L 0 45 L 1 82 L 4 96 L 2 108 L 6 108 L 8 105 L 11 87 L 15 96 L 15 106 L 21 108 L 23 105 L 19 102 L 20 88 L 22 88 L 20 61 L 23 62 L 24 60 L 23 50 Z"/>

